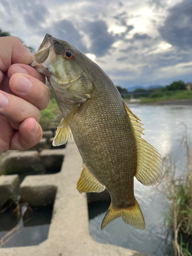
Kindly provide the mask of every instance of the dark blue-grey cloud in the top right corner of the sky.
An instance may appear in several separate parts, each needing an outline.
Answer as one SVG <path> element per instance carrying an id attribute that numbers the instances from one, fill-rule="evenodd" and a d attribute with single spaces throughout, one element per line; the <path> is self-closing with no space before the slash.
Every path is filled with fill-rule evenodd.
<path id="1" fill-rule="evenodd" d="M 192 1 L 184 0 L 169 9 L 169 15 L 165 19 L 164 26 L 159 28 L 161 36 L 180 48 L 192 47 Z"/>

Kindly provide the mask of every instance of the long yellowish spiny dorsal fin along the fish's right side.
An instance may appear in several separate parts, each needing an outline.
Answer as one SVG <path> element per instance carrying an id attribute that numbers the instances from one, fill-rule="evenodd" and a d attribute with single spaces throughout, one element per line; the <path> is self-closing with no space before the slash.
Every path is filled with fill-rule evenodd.
<path id="1" fill-rule="evenodd" d="M 142 131 L 139 118 L 134 115 L 123 101 L 124 108 L 131 119 L 137 143 L 137 170 L 135 177 L 145 186 L 155 185 L 163 173 L 163 164 L 160 154 L 155 147 L 141 138 Z"/>

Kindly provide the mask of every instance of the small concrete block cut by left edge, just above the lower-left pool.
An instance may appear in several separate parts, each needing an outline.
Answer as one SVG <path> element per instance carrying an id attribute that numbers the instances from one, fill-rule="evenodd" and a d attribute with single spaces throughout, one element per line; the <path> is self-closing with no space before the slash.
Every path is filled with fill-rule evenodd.
<path id="1" fill-rule="evenodd" d="M 7 202 L 18 183 L 19 177 L 17 174 L 0 176 L 0 205 Z"/>

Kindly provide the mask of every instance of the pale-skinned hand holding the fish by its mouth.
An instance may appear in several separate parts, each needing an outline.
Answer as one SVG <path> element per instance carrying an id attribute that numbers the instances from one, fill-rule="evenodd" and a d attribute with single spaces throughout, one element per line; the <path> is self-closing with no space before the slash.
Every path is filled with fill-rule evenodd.
<path id="1" fill-rule="evenodd" d="M 40 110 L 50 100 L 46 77 L 30 67 L 33 54 L 15 37 L 0 37 L 0 154 L 27 150 L 42 137 Z"/>

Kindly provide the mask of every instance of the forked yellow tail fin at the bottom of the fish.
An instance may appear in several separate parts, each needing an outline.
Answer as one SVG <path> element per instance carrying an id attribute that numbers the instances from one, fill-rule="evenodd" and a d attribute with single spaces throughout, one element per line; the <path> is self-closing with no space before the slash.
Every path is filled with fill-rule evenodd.
<path id="1" fill-rule="evenodd" d="M 111 203 L 108 211 L 101 224 L 101 230 L 108 225 L 111 221 L 122 217 L 122 220 L 132 227 L 138 229 L 145 229 L 145 221 L 140 209 L 140 206 L 135 199 L 135 205 L 126 209 L 117 209 Z"/>

